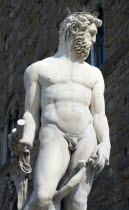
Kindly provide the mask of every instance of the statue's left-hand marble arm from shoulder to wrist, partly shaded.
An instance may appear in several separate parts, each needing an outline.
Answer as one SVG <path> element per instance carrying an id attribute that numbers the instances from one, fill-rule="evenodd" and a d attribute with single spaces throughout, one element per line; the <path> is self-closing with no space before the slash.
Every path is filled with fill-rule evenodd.
<path id="1" fill-rule="evenodd" d="M 21 143 L 33 145 L 36 131 L 40 122 L 40 86 L 38 83 L 38 73 L 35 64 L 29 66 L 24 74 L 24 86 L 26 90 L 25 113 L 24 113 L 24 132 Z"/>

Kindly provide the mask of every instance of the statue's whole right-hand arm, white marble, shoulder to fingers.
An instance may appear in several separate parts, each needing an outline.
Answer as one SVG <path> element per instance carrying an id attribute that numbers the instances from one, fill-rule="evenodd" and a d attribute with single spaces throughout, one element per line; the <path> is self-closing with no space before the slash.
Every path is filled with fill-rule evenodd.
<path id="1" fill-rule="evenodd" d="M 98 140 L 98 145 L 89 160 L 98 172 L 109 164 L 110 137 L 107 117 L 105 115 L 104 80 L 101 72 L 97 69 L 97 81 L 92 90 L 91 113 L 93 125 Z"/>

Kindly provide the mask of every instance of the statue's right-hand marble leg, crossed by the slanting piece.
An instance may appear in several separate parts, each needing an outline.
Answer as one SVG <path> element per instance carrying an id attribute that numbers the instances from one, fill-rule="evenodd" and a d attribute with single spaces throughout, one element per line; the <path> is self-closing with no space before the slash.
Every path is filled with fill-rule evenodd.
<path id="1" fill-rule="evenodd" d="M 72 155 L 69 164 L 69 173 L 75 168 L 79 160 L 88 160 L 97 145 L 96 135 L 93 126 L 90 125 L 83 139 L 79 141 L 78 148 Z M 86 169 L 81 183 L 64 199 L 63 210 L 86 210 L 87 197 L 90 193 L 94 177 L 94 170 L 90 167 Z"/>

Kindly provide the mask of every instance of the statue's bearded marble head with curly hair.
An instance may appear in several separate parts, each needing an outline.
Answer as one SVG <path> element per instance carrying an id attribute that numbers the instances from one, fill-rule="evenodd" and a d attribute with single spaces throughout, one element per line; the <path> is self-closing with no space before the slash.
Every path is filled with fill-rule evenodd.
<path id="1" fill-rule="evenodd" d="M 86 12 L 71 13 L 61 24 L 59 45 L 71 37 L 77 57 L 86 60 L 96 41 L 97 28 L 101 25 L 102 21 L 95 15 Z"/>

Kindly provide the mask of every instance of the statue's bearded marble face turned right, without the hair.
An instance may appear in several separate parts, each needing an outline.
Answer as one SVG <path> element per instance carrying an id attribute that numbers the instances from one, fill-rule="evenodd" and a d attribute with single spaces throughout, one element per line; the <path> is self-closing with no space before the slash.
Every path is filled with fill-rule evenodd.
<path id="1" fill-rule="evenodd" d="M 74 31 L 74 33 L 72 32 L 72 34 L 77 57 L 79 57 L 80 60 L 86 60 L 93 43 L 96 41 L 96 25 L 92 23 L 85 30 L 81 30 L 80 27 L 78 27 L 78 30 Z"/>

